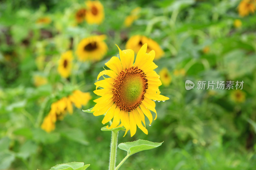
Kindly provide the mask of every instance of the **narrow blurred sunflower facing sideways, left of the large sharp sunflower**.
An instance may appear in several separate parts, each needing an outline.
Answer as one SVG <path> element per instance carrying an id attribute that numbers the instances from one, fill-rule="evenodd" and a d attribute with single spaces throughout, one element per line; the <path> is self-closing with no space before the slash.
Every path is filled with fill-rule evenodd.
<path id="1" fill-rule="evenodd" d="M 64 78 L 69 77 L 72 68 L 73 55 L 72 51 L 69 50 L 60 56 L 58 71 Z"/>

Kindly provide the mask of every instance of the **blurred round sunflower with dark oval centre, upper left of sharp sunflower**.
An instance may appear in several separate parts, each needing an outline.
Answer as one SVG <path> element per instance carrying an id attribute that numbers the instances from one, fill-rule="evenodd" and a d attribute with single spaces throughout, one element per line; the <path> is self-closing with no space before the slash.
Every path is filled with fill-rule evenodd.
<path id="1" fill-rule="evenodd" d="M 99 61 L 108 50 L 104 42 L 105 35 L 95 35 L 81 40 L 77 46 L 76 54 L 80 61 Z"/>

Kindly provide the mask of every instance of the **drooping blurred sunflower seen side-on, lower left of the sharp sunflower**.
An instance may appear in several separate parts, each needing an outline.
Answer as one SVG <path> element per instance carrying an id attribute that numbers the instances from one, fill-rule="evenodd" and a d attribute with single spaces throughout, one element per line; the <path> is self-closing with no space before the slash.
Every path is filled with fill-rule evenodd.
<path id="1" fill-rule="evenodd" d="M 70 96 L 63 97 L 60 100 L 52 103 L 51 110 L 47 116 L 45 116 L 41 128 L 46 132 L 51 132 L 55 129 L 55 122 L 57 120 L 63 120 L 67 114 L 73 114 L 72 103 L 77 107 L 81 108 L 82 105 L 87 105 L 88 101 L 92 97 L 89 92 L 81 92 L 75 90 Z"/>

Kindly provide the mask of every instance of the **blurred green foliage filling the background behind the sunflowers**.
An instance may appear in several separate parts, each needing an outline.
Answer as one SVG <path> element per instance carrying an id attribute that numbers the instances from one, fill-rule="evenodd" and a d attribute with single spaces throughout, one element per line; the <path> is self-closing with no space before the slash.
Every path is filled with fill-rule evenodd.
<path id="1" fill-rule="evenodd" d="M 158 117 L 148 135 L 122 137 L 121 142 L 144 139 L 161 147 L 132 155 L 120 169 L 255 169 L 256 167 L 256 16 L 241 18 L 239 0 L 102 1 L 105 20 L 99 26 L 73 26 L 84 1 L 0 2 L 0 169 L 50 169 L 68 162 L 108 168 L 110 133 L 101 132 L 102 117 L 76 109 L 47 133 L 40 129 L 51 103 L 74 86 L 97 96 L 93 83 L 102 66 L 135 34 L 159 43 L 165 55 L 155 61 L 166 67 L 172 83 L 160 86 L 170 98 L 156 102 Z M 124 19 L 140 6 L 141 16 L 129 28 Z M 38 25 L 48 16 L 51 23 Z M 242 26 L 233 23 L 240 19 Z M 94 63 L 76 62 L 69 80 L 57 72 L 61 53 L 76 50 L 92 34 L 106 34 L 108 53 Z M 209 48 L 205 52 L 204 48 Z M 36 60 L 44 56 L 44 61 Z M 41 66 L 40 66 L 41 64 Z M 39 65 L 39 66 L 38 66 Z M 174 75 L 184 69 L 184 76 Z M 33 76 L 48 83 L 36 87 Z M 232 100 L 232 90 L 187 91 L 186 80 L 244 81 L 245 100 Z M 83 109 L 94 106 L 91 100 Z M 42 116 L 40 116 L 42 115 Z M 117 163 L 126 153 L 118 151 Z"/>

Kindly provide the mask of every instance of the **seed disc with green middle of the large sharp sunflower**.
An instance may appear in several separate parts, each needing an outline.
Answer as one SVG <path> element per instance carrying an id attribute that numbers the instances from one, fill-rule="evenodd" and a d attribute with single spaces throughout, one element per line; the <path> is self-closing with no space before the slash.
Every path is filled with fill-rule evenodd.
<path id="1" fill-rule="evenodd" d="M 122 70 L 114 82 L 114 102 L 127 112 L 140 106 L 148 89 L 146 74 L 138 67 Z"/>

